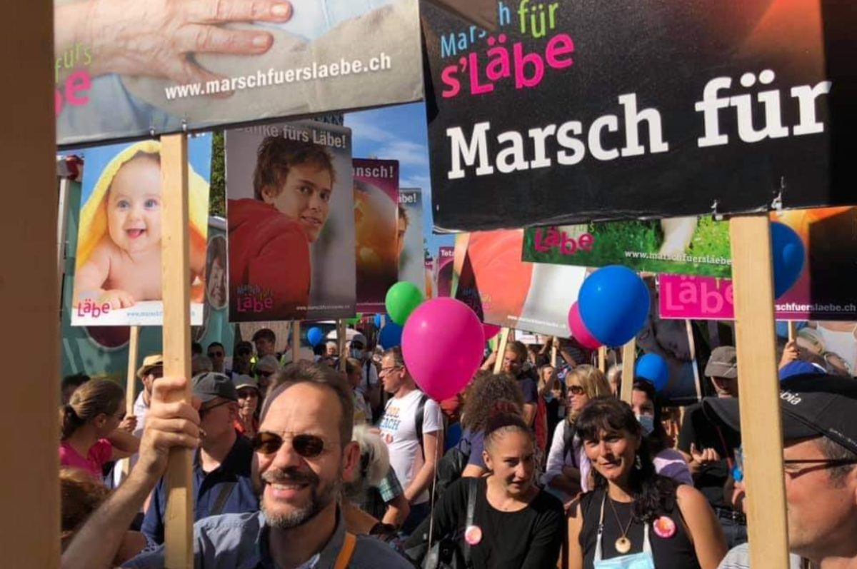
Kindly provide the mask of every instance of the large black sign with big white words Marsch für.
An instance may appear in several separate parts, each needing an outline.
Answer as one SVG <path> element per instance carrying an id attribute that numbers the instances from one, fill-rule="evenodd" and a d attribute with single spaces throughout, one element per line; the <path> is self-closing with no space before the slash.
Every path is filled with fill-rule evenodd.
<path id="1" fill-rule="evenodd" d="M 491 34 L 422 9 L 442 230 L 854 202 L 844 4 L 500 2 Z"/>

